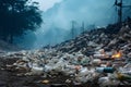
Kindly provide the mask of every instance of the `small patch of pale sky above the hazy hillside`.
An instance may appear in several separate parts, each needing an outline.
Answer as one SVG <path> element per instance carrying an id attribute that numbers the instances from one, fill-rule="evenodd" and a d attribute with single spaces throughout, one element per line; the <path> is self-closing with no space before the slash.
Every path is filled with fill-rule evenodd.
<path id="1" fill-rule="evenodd" d="M 39 2 L 39 9 L 43 11 L 47 11 L 49 8 L 52 8 L 55 3 L 60 2 L 62 0 L 33 0 Z"/>

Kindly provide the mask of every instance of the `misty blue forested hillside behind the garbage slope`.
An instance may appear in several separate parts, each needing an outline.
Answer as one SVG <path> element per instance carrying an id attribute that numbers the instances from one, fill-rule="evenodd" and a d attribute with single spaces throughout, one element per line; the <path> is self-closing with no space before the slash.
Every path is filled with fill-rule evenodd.
<path id="1" fill-rule="evenodd" d="M 124 0 L 123 4 L 127 2 L 131 3 L 130 0 Z M 16 44 L 24 48 L 60 44 L 72 38 L 72 22 L 75 22 L 75 36 L 82 33 L 82 24 L 85 30 L 114 24 L 118 21 L 117 8 L 114 4 L 115 0 L 61 0 L 48 10 L 41 9 L 41 27 L 35 33 L 27 32 L 25 36 L 15 38 Z M 124 10 L 130 12 L 129 9 Z"/>

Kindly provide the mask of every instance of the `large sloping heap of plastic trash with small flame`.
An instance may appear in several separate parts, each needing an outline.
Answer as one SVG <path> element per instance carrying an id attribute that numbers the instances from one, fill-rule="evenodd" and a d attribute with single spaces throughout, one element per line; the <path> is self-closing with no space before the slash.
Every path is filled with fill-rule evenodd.
<path id="1" fill-rule="evenodd" d="M 8 52 L 1 58 L 17 59 L 7 64 L 7 70 L 20 72 L 17 76 L 41 75 L 57 79 L 63 75 L 69 76 L 64 84 L 128 87 L 131 85 L 131 28 L 122 26 L 117 34 L 106 33 L 107 29 L 86 32 L 50 49 Z"/>

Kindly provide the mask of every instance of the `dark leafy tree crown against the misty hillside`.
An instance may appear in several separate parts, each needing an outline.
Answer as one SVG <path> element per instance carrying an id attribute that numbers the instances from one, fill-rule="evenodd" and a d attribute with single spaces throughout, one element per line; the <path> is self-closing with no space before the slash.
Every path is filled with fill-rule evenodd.
<path id="1" fill-rule="evenodd" d="M 13 37 L 35 30 L 43 20 L 37 2 L 31 0 L 0 0 L 0 39 L 13 42 Z"/>

